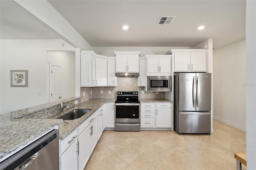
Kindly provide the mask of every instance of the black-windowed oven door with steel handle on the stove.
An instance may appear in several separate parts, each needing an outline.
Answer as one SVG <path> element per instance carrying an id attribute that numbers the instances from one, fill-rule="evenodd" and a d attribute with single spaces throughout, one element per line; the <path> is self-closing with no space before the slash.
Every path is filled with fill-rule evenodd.
<path id="1" fill-rule="evenodd" d="M 115 103 L 115 123 L 140 123 L 140 103 Z"/>

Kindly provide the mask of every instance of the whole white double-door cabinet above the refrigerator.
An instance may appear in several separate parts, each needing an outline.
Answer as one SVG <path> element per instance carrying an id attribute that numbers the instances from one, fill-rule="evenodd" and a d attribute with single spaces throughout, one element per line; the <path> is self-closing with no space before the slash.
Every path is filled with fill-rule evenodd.
<path id="1" fill-rule="evenodd" d="M 172 50 L 174 56 L 174 71 L 176 72 L 206 72 L 205 49 Z"/>

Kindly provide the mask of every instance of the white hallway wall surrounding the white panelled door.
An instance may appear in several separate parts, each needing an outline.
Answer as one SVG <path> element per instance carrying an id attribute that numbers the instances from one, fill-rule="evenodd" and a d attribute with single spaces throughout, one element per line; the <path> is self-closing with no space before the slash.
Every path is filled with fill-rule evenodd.
<path id="1" fill-rule="evenodd" d="M 70 51 L 48 51 L 48 63 L 61 65 L 61 97 L 66 99 L 75 96 L 75 53 Z M 49 75 L 49 68 L 46 74 Z M 46 77 L 46 82 L 49 84 L 49 76 Z M 49 86 L 46 86 L 46 91 L 49 91 Z M 50 93 L 48 93 L 49 98 Z"/>

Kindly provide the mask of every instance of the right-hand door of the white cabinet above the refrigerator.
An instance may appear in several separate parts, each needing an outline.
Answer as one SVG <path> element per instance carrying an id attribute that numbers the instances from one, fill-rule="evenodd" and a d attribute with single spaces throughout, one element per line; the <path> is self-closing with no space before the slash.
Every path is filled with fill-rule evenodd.
<path id="1" fill-rule="evenodd" d="M 205 53 L 191 53 L 191 71 L 206 71 Z"/>

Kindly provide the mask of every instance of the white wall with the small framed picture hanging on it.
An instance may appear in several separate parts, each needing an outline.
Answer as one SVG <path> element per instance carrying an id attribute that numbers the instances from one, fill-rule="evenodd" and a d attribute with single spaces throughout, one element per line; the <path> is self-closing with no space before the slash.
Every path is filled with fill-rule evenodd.
<path id="1" fill-rule="evenodd" d="M 63 40 L 0 41 L 0 113 L 48 103 L 47 51 L 75 51 L 75 48 Z M 65 43 L 63 47 L 61 42 Z M 28 70 L 28 87 L 10 87 L 10 70 Z M 37 96 L 37 92 L 42 96 Z"/>

